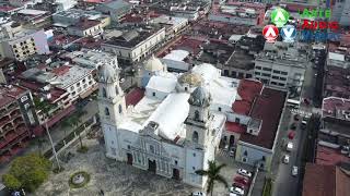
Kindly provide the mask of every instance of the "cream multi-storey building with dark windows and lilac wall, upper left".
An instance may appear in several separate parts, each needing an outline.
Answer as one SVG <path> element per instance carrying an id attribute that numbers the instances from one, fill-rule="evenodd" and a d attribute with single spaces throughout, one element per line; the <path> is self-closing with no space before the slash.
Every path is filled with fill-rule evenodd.
<path id="1" fill-rule="evenodd" d="M 22 27 L 8 29 L 0 40 L 0 57 L 23 61 L 34 53 L 49 53 L 44 29 L 24 29 Z"/>

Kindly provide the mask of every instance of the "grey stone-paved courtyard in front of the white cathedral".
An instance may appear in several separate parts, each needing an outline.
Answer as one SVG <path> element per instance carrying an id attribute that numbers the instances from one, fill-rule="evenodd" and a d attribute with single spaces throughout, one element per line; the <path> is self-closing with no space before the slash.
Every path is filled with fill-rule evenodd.
<path id="1" fill-rule="evenodd" d="M 116 162 L 106 158 L 104 146 L 95 139 L 84 139 L 83 143 L 89 146 L 89 151 L 86 154 L 77 152 L 75 148 L 79 147 L 79 144 L 75 147 L 71 147 L 70 151 L 74 156 L 69 161 L 62 162 L 65 171 L 59 174 L 51 174 L 35 195 L 97 196 L 101 195 L 101 189 L 103 189 L 105 196 L 187 196 L 192 192 L 199 191 L 178 181 L 162 177 L 149 171 L 128 166 L 125 162 Z M 222 174 L 225 175 L 229 184 L 232 183 L 236 169 L 236 167 L 232 167 L 229 163 L 222 170 Z M 78 171 L 88 172 L 91 180 L 84 187 L 70 188 L 68 181 Z M 221 184 L 215 184 L 214 195 L 228 195 L 228 191 Z"/>

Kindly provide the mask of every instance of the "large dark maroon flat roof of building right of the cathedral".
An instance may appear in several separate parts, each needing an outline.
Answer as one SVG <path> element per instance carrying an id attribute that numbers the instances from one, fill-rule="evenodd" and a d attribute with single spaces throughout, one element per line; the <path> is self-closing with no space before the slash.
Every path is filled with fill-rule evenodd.
<path id="1" fill-rule="evenodd" d="M 259 135 L 243 134 L 241 140 L 272 149 L 285 97 L 285 91 L 264 87 L 250 112 L 252 118 L 262 120 Z"/>

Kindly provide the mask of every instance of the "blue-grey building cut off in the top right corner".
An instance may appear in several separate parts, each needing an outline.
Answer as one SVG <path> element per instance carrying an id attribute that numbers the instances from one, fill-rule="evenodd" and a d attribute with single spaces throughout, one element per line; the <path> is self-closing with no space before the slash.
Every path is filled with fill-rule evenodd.
<path id="1" fill-rule="evenodd" d="M 335 0 L 334 2 L 335 4 L 331 8 L 331 21 L 338 22 L 341 26 L 350 26 L 350 1 Z"/>

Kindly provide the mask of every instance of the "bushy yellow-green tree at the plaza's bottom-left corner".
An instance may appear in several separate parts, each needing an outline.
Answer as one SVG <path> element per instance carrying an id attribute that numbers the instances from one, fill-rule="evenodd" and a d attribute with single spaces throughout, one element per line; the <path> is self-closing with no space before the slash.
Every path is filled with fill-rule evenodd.
<path id="1" fill-rule="evenodd" d="M 34 192 L 43 184 L 49 175 L 51 162 L 38 154 L 30 154 L 13 160 L 2 181 L 10 189 L 23 187 L 28 192 Z"/>

